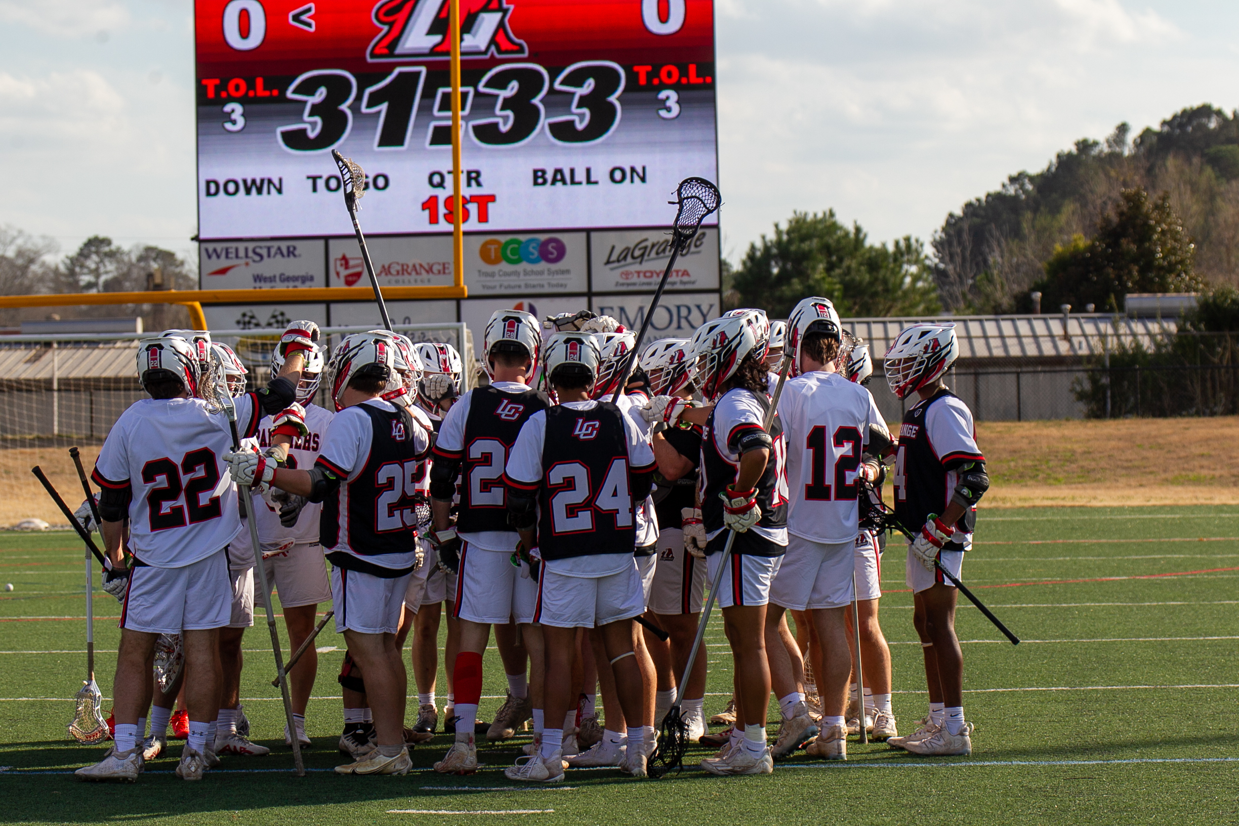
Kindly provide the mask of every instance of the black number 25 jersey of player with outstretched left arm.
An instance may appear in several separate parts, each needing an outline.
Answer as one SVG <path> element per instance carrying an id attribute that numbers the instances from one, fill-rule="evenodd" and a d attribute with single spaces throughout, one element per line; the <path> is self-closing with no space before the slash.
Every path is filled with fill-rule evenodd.
<path id="1" fill-rule="evenodd" d="M 415 445 L 416 425 L 403 407 L 357 409 L 370 419 L 370 451 L 362 469 L 344 474 L 339 487 L 323 500 L 318 523 L 322 545 L 346 544 L 362 556 L 408 554 L 418 537 L 414 485 L 418 466 L 425 458 Z M 342 473 L 322 457 L 318 464 Z"/>

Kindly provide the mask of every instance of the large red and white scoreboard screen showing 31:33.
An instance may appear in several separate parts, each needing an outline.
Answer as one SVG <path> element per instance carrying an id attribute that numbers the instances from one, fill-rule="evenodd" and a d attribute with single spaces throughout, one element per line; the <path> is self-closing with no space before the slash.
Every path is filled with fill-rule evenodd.
<path id="1" fill-rule="evenodd" d="M 197 0 L 202 239 L 451 232 L 449 0 Z M 716 180 L 712 0 L 461 0 L 470 232 L 669 223 Z"/>

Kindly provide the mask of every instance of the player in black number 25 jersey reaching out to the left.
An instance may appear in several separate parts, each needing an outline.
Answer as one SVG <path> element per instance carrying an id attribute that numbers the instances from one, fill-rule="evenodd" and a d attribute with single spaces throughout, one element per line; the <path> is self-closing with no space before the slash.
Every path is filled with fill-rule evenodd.
<path id="1" fill-rule="evenodd" d="M 366 677 L 375 748 L 338 774 L 405 774 L 405 671 L 395 634 L 409 577 L 421 562 L 413 479 L 430 435 L 382 396 L 395 365 L 390 333 L 346 337 L 327 364 L 337 407 L 311 469 L 276 468 L 254 453 L 229 453 L 240 484 L 269 484 L 323 503 L 320 540 L 332 565 L 336 632 Z"/>

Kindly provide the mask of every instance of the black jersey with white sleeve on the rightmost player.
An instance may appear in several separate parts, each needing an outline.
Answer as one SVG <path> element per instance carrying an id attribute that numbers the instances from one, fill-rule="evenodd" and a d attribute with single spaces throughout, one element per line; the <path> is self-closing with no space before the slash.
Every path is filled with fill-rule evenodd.
<path id="1" fill-rule="evenodd" d="M 896 453 L 893 493 L 895 515 L 911 531 L 918 531 L 929 520 L 929 515 L 942 515 L 950 504 L 955 490 L 957 469 L 965 462 L 984 462 L 971 432 L 964 432 L 961 422 L 950 416 L 930 416 L 935 405 L 949 404 L 954 399 L 959 406 L 963 400 L 943 388 L 928 400 L 913 406 L 903 414 L 900 426 L 900 447 Z M 966 409 L 965 409 L 966 412 Z M 939 425 L 938 432 L 930 432 L 929 420 L 948 422 Z M 957 531 L 971 534 L 976 525 L 976 508 L 969 508 L 955 525 Z M 943 547 L 948 551 L 964 550 L 960 534 Z"/>

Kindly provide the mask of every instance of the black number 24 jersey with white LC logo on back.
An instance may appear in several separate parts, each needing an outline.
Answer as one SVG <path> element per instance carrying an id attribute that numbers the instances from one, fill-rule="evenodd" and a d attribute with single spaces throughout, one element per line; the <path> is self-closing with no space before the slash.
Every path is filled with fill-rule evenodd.
<path id="1" fill-rule="evenodd" d="M 545 560 L 632 554 L 637 521 L 623 414 L 602 401 L 589 410 L 548 407 L 538 494 L 538 549 Z"/>

